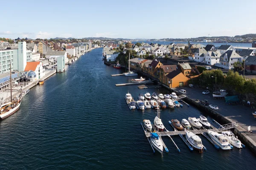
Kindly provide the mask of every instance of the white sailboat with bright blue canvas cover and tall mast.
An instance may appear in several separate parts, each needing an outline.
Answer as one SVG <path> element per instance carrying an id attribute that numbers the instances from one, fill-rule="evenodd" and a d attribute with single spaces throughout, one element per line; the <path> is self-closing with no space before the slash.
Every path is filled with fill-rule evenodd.
<path id="1" fill-rule="evenodd" d="M 159 100 L 158 100 L 159 101 Z M 159 103 L 158 103 L 159 105 Z M 156 126 L 156 123 L 162 123 L 161 119 L 159 119 L 159 114 L 160 114 L 160 110 L 159 110 L 159 106 L 157 107 L 157 116 L 156 118 L 154 119 L 154 124 Z M 156 119 L 159 119 L 160 122 L 156 122 Z M 163 125 L 163 123 L 162 123 Z M 163 141 L 161 139 L 161 136 L 159 136 L 159 126 L 156 126 L 157 127 L 157 133 L 154 132 L 154 133 L 150 133 L 150 141 L 151 141 L 151 144 L 153 145 L 153 147 L 160 153 L 163 153 Z"/>

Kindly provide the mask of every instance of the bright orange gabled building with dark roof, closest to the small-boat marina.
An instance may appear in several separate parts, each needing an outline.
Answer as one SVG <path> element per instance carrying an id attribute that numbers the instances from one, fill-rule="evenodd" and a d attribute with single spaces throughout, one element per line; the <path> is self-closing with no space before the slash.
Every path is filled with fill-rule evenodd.
<path id="1" fill-rule="evenodd" d="M 177 88 L 188 85 L 189 77 L 184 76 L 180 71 L 172 71 L 166 75 L 165 84 L 169 88 Z"/>

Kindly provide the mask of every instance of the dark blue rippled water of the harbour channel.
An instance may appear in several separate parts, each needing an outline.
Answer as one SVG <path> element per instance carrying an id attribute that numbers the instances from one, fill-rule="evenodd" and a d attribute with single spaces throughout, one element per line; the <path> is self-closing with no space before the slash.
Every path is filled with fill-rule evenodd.
<path id="1" fill-rule="evenodd" d="M 129 77 L 111 77 L 122 71 L 102 62 L 102 49 L 93 50 L 63 74 L 32 88 L 20 110 L 0 122 L 0 169 L 247 169 L 256 157 L 248 148 L 216 150 L 203 136 L 207 151 L 190 152 L 179 136 L 163 141 L 169 153 L 155 153 L 140 122 L 154 120 L 153 109 L 130 111 L 125 93 L 167 92 L 163 88 L 116 87 Z M 164 110 L 168 121 L 200 116 L 192 106 Z M 207 115 L 206 115 L 207 116 Z"/>

